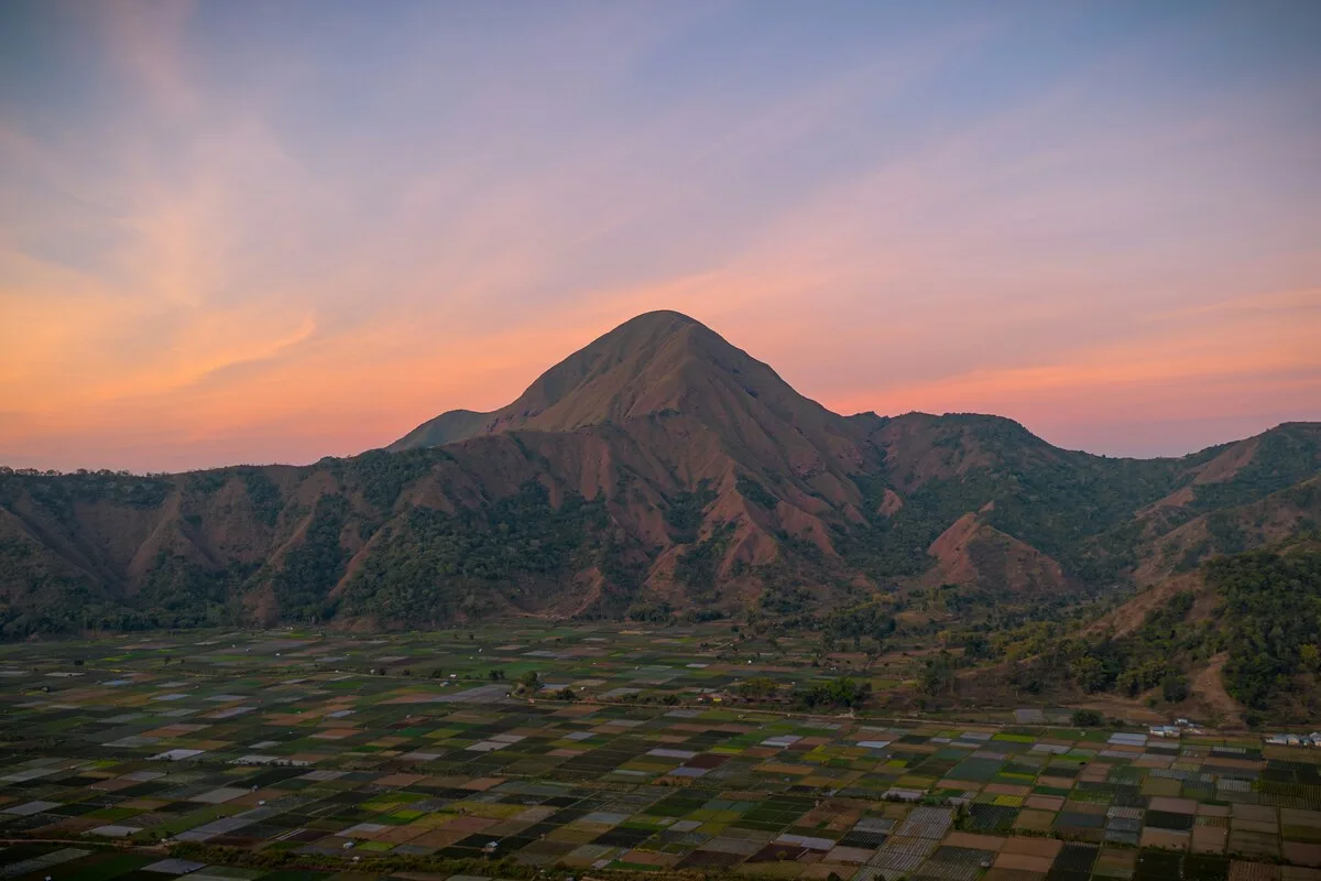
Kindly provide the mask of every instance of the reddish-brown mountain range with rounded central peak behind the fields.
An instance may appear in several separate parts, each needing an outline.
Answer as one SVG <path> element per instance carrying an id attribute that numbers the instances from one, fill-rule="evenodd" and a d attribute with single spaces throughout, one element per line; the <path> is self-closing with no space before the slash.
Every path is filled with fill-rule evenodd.
<path id="1" fill-rule="evenodd" d="M 785 617 L 933 589 L 999 614 L 1306 531 L 1318 474 L 1314 424 L 1116 460 L 996 416 L 840 416 L 655 312 L 507 407 L 350 458 L 4 469 L 0 627 Z"/>

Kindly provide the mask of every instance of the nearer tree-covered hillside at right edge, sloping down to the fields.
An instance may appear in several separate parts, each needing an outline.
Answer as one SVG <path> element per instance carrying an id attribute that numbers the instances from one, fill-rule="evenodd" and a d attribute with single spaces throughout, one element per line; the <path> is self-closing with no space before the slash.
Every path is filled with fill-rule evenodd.
<path id="1" fill-rule="evenodd" d="M 1004 634 L 971 674 L 1054 701 L 1104 693 L 1213 724 L 1309 724 L 1321 712 L 1321 540 L 1218 556 L 1078 633 Z M 1026 637 L 1025 639 L 1022 639 Z M 1174 709 L 1177 708 L 1177 709 Z"/>

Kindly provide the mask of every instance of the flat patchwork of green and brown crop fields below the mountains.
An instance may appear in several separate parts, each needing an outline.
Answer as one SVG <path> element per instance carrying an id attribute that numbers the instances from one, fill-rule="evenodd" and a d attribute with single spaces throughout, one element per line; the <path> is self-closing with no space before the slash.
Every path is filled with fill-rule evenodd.
<path id="1" fill-rule="evenodd" d="M 3 646 L 0 877 L 1321 878 L 1321 750 L 1067 728 L 1049 707 L 750 707 L 752 678 L 853 664 L 881 691 L 922 660 L 736 639 L 526 623 Z M 542 691 L 510 696 L 528 672 Z"/>

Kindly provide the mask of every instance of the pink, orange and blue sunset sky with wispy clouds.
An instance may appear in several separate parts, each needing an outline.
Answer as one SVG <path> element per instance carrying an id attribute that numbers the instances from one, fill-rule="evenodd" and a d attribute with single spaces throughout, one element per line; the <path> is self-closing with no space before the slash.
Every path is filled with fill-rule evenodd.
<path id="1" fill-rule="evenodd" d="M 0 4 L 0 464 L 351 454 L 651 309 L 844 413 L 1321 420 L 1321 4 Z"/>

